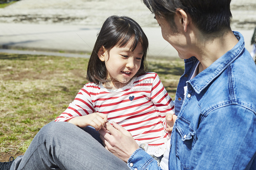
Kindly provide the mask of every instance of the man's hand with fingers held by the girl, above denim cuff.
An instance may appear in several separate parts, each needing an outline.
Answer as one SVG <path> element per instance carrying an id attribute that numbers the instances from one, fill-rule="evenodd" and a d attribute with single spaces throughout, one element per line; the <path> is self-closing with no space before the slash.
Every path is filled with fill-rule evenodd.
<path id="1" fill-rule="evenodd" d="M 107 122 L 105 128 L 99 130 L 104 147 L 127 162 L 132 153 L 139 148 L 131 133 L 115 122 L 113 122 L 113 126 Z"/>

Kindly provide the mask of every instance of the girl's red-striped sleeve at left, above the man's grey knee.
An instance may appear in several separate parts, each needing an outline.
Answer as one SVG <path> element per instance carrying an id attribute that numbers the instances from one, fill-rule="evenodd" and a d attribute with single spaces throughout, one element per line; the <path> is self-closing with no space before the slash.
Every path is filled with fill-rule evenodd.
<path id="1" fill-rule="evenodd" d="M 73 117 L 84 116 L 95 112 L 88 90 L 90 86 L 87 87 L 87 85 L 88 84 L 84 85 L 84 87 L 79 90 L 74 101 L 70 103 L 68 108 L 54 120 L 55 122 L 63 122 Z"/>

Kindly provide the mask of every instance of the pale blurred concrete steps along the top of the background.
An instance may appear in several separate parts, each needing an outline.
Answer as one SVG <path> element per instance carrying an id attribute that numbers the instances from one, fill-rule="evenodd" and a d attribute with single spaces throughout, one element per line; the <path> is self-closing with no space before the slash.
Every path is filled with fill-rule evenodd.
<path id="1" fill-rule="evenodd" d="M 255 27 L 255 0 L 232 0 L 231 10 L 232 28 Z M 0 9 L 0 22 L 101 26 L 110 15 L 127 15 L 142 26 L 158 26 L 140 0 L 21 0 Z"/>

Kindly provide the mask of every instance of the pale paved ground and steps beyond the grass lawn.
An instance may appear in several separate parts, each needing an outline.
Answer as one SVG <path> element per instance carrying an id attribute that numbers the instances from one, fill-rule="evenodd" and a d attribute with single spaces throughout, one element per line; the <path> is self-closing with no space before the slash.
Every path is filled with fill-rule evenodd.
<path id="1" fill-rule="evenodd" d="M 243 4 L 241 6 L 241 4 Z M 245 45 L 256 25 L 256 1 L 232 0 L 232 29 Z M 153 14 L 140 0 L 21 0 L 0 9 L 0 48 L 90 53 L 97 32 L 110 15 L 135 19 L 149 39 L 149 55 L 176 57 L 176 50 L 161 35 Z"/>

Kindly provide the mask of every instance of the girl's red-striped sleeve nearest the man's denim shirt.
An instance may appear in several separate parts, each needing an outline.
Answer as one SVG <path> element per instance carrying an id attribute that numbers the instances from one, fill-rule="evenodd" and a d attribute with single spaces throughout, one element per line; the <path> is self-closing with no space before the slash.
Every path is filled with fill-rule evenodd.
<path id="1" fill-rule="evenodd" d="M 152 83 L 150 97 L 151 101 L 154 103 L 157 112 L 159 113 L 159 116 L 162 118 L 164 129 L 166 129 L 165 116 L 167 113 L 174 114 L 174 102 L 168 95 L 166 89 L 164 88 L 162 82 L 159 79 L 159 76 L 156 73 Z"/>

